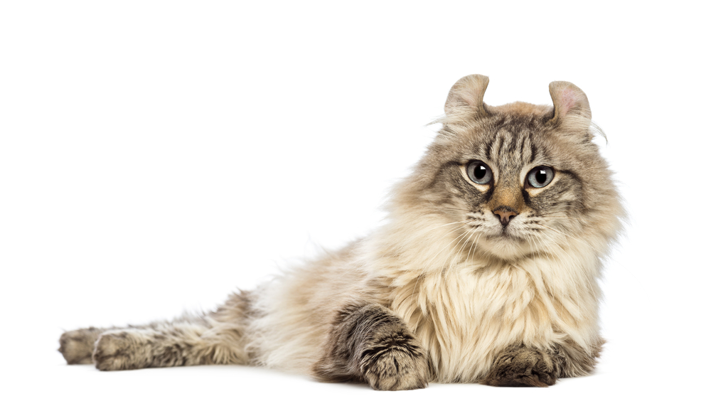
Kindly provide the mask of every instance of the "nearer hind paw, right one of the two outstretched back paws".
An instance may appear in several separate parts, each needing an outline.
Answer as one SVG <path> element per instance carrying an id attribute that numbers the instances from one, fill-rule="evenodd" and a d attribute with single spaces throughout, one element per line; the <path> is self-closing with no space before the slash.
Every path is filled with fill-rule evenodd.
<path id="1" fill-rule="evenodd" d="M 108 331 L 96 341 L 92 359 L 102 371 L 144 368 L 140 361 L 141 343 L 129 331 Z"/>

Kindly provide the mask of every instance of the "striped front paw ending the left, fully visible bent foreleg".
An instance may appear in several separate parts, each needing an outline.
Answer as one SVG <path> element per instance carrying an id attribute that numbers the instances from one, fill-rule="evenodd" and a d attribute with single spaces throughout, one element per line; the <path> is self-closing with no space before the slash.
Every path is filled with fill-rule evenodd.
<path id="1" fill-rule="evenodd" d="M 419 347 L 371 349 L 361 360 L 363 375 L 374 390 L 416 390 L 427 387 L 429 366 Z"/>

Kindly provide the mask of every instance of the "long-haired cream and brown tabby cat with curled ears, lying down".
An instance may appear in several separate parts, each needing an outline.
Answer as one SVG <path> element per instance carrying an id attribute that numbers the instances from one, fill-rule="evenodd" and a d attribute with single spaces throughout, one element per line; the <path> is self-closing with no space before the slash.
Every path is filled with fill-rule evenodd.
<path id="1" fill-rule="evenodd" d="M 375 390 L 555 384 L 604 343 L 598 280 L 624 210 L 587 96 L 483 102 L 457 81 L 442 128 L 395 186 L 387 223 L 205 315 L 68 331 L 68 364 L 262 365 Z"/>

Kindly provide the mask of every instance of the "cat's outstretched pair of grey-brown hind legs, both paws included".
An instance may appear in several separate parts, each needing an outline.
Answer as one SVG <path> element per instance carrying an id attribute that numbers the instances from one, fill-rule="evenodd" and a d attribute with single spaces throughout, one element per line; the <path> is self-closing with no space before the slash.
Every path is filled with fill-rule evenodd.
<path id="1" fill-rule="evenodd" d="M 141 326 L 67 331 L 59 352 L 68 364 L 94 363 L 100 370 L 172 367 L 176 365 L 247 364 L 245 333 L 251 293 L 230 295 L 204 315 Z"/>

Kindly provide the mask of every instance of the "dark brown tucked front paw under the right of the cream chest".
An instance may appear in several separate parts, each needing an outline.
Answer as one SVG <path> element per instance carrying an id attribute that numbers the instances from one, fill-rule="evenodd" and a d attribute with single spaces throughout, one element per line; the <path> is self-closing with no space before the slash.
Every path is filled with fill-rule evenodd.
<path id="1" fill-rule="evenodd" d="M 555 384 L 555 358 L 526 346 L 512 346 L 498 355 L 482 383 L 498 387 L 547 387 Z"/>

